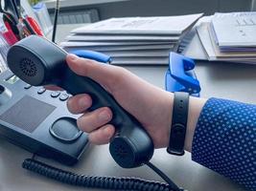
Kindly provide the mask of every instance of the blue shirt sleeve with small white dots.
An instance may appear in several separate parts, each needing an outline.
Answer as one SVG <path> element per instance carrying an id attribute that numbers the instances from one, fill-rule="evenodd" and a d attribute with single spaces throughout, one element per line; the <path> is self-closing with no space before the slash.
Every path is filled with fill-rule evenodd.
<path id="1" fill-rule="evenodd" d="M 192 159 L 256 191 L 256 105 L 210 98 L 198 118 Z"/>

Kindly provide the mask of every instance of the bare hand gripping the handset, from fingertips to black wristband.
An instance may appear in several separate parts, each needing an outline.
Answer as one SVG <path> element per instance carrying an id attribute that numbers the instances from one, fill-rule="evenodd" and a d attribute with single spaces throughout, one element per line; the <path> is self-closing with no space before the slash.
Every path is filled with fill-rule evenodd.
<path id="1" fill-rule="evenodd" d="M 90 77 L 101 84 L 129 114 L 137 118 L 148 131 L 155 148 L 167 147 L 172 119 L 172 94 L 121 67 L 101 64 L 74 54 L 68 54 L 66 61 L 76 74 Z M 71 113 L 82 114 L 77 121 L 78 127 L 89 134 L 89 140 L 95 144 L 108 143 L 115 133 L 114 126 L 108 123 L 113 114 L 107 107 L 86 111 L 91 104 L 91 97 L 85 94 L 72 96 L 67 101 Z"/>

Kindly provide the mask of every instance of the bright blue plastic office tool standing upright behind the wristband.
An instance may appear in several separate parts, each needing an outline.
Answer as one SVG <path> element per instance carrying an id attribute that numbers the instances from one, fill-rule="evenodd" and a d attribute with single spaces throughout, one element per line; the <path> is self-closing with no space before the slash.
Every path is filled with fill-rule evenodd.
<path id="1" fill-rule="evenodd" d="M 193 70 L 195 62 L 184 55 L 170 53 L 169 69 L 165 76 L 168 92 L 187 92 L 190 96 L 199 96 L 200 84 Z"/>

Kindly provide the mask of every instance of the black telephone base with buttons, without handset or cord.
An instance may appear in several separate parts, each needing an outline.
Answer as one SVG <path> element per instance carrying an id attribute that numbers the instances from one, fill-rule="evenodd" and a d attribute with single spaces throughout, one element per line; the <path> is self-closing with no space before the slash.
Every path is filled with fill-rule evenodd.
<path id="1" fill-rule="evenodd" d="M 0 135 L 41 157 L 72 165 L 87 145 L 87 135 L 66 109 L 67 93 L 33 87 L 11 71 L 0 74 Z"/>

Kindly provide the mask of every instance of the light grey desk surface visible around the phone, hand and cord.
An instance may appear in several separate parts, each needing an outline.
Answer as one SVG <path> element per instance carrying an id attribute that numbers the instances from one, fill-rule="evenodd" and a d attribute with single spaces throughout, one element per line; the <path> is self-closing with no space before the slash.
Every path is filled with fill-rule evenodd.
<path id="1" fill-rule="evenodd" d="M 163 87 L 167 67 L 126 67 L 152 84 Z M 201 96 L 226 97 L 256 103 L 256 66 L 229 63 L 198 62 L 196 72 L 201 84 Z M 23 159 L 31 154 L 0 138 L 0 191 L 70 191 L 95 190 L 73 187 L 48 180 L 21 168 Z M 98 176 L 139 177 L 160 180 L 146 167 L 122 169 L 108 153 L 108 146 L 90 146 L 81 161 L 74 167 L 61 166 L 55 161 L 41 159 L 76 173 Z M 191 155 L 174 157 L 165 149 L 156 150 L 152 162 L 160 167 L 177 185 L 190 191 L 242 191 L 231 180 L 200 166 L 191 160 Z"/>

